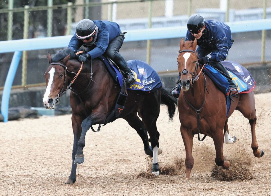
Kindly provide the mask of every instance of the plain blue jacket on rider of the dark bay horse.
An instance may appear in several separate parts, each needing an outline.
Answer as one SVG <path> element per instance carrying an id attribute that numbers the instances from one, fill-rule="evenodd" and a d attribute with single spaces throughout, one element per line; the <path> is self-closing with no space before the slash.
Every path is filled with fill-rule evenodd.
<path id="1" fill-rule="evenodd" d="M 114 22 L 98 20 L 93 22 L 99 29 L 95 45 L 93 47 L 84 45 L 84 42 L 81 39 L 76 38 L 75 33 L 71 38 L 68 48 L 77 51 L 83 45 L 86 48 L 91 48 L 91 51 L 89 51 L 88 54 L 91 56 L 91 58 L 96 58 L 105 52 L 108 44 L 115 39 L 121 31 L 120 26 Z"/>

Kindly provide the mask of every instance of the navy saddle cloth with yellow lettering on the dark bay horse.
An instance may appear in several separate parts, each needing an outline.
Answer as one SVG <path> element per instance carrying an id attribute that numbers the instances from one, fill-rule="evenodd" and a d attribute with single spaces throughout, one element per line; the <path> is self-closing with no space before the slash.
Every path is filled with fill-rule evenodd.
<path id="1" fill-rule="evenodd" d="M 100 56 L 99 58 L 104 62 L 115 81 L 122 87 L 123 76 L 119 69 L 109 63 L 104 56 Z M 136 77 L 135 83 L 127 85 L 128 90 L 151 92 L 162 87 L 162 82 L 158 73 L 149 64 L 140 60 L 129 60 L 127 62 Z"/>

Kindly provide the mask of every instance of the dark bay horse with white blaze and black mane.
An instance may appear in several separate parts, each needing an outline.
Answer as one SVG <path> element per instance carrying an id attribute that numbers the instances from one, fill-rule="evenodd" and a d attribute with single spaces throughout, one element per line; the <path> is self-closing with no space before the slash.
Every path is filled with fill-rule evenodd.
<path id="1" fill-rule="evenodd" d="M 50 66 L 45 73 L 47 86 L 43 98 L 45 108 L 55 108 L 59 97 L 70 85 L 73 90 L 70 93 L 74 134 L 73 163 L 71 174 L 66 182 L 73 184 L 76 180 L 77 164 L 84 162 L 83 148 L 86 132 L 92 125 L 104 124 L 106 117 L 115 106 L 121 88 L 99 59 L 93 59 L 92 62 L 87 61 L 81 65 L 78 56 L 70 49 L 55 54 L 53 58 L 48 53 L 47 58 Z M 125 119 L 142 138 L 145 153 L 153 156 L 151 172 L 159 175 L 157 157 L 159 132 L 156 128 L 156 121 L 160 112 L 160 104 L 167 106 L 169 119 L 172 120 L 177 100 L 163 87 L 150 93 L 139 93 L 133 90 L 127 90 L 127 92 L 128 97 L 120 117 Z"/>

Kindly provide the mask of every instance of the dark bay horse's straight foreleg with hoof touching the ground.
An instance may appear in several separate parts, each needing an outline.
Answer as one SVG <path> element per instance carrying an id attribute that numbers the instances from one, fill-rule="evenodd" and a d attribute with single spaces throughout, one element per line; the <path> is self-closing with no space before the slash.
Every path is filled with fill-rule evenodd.
<path id="1" fill-rule="evenodd" d="M 82 120 L 80 120 L 78 118 L 75 121 L 75 117 L 74 117 L 74 115 L 72 115 L 72 124 L 73 124 L 73 154 L 72 154 L 72 158 L 73 158 L 73 162 L 72 162 L 71 174 L 70 174 L 68 180 L 66 181 L 66 184 L 73 184 L 76 181 L 77 165 L 74 164 L 74 160 L 75 160 L 75 154 L 77 151 L 77 142 L 78 142 L 80 135 L 81 135 L 81 122 L 82 122 Z"/>

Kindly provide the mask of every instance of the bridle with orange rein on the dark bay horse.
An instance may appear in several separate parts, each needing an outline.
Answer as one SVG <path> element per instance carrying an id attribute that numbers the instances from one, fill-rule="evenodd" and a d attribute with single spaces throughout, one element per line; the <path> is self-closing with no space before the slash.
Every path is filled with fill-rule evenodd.
<path id="1" fill-rule="evenodd" d="M 53 62 L 53 63 L 50 63 L 50 65 L 60 65 L 60 66 L 62 66 L 62 67 L 65 69 L 64 84 L 63 84 L 63 86 L 62 86 L 62 89 L 60 90 L 60 93 L 57 95 L 56 103 L 55 103 L 56 105 L 59 104 L 60 97 L 61 97 L 62 95 L 64 95 L 64 94 L 67 92 L 67 90 L 70 89 L 71 91 L 73 91 L 73 93 L 74 93 L 75 95 L 80 95 L 81 93 L 83 93 L 83 92 L 88 88 L 88 86 L 90 85 L 91 81 L 93 81 L 93 79 L 92 79 L 92 75 L 93 75 L 93 73 L 92 73 L 92 61 L 91 61 L 91 73 L 90 73 L 90 80 L 89 80 L 89 83 L 88 83 L 88 85 L 86 86 L 86 88 L 85 88 L 81 93 L 75 93 L 74 90 L 71 88 L 71 85 L 74 83 L 75 79 L 76 79 L 76 78 L 78 77 L 78 75 L 80 74 L 80 72 L 81 72 L 81 70 L 82 70 L 82 68 L 83 68 L 83 62 L 81 63 L 81 67 L 80 67 L 80 69 L 79 69 L 79 71 L 78 71 L 77 73 L 75 73 L 75 72 L 73 72 L 73 71 L 69 71 L 69 70 L 67 69 L 67 66 L 64 65 L 64 64 L 62 64 L 62 63 Z M 50 66 L 50 65 L 49 65 L 49 66 Z M 66 86 L 66 80 L 67 80 L 67 72 L 73 73 L 75 76 L 74 76 L 73 80 L 70 82 L 70 84 L 68 84 L 68 86 L 65 88 L 65 86 Z M 94 81 L 93 81 L 93 82 L 94 82 Z"/>

